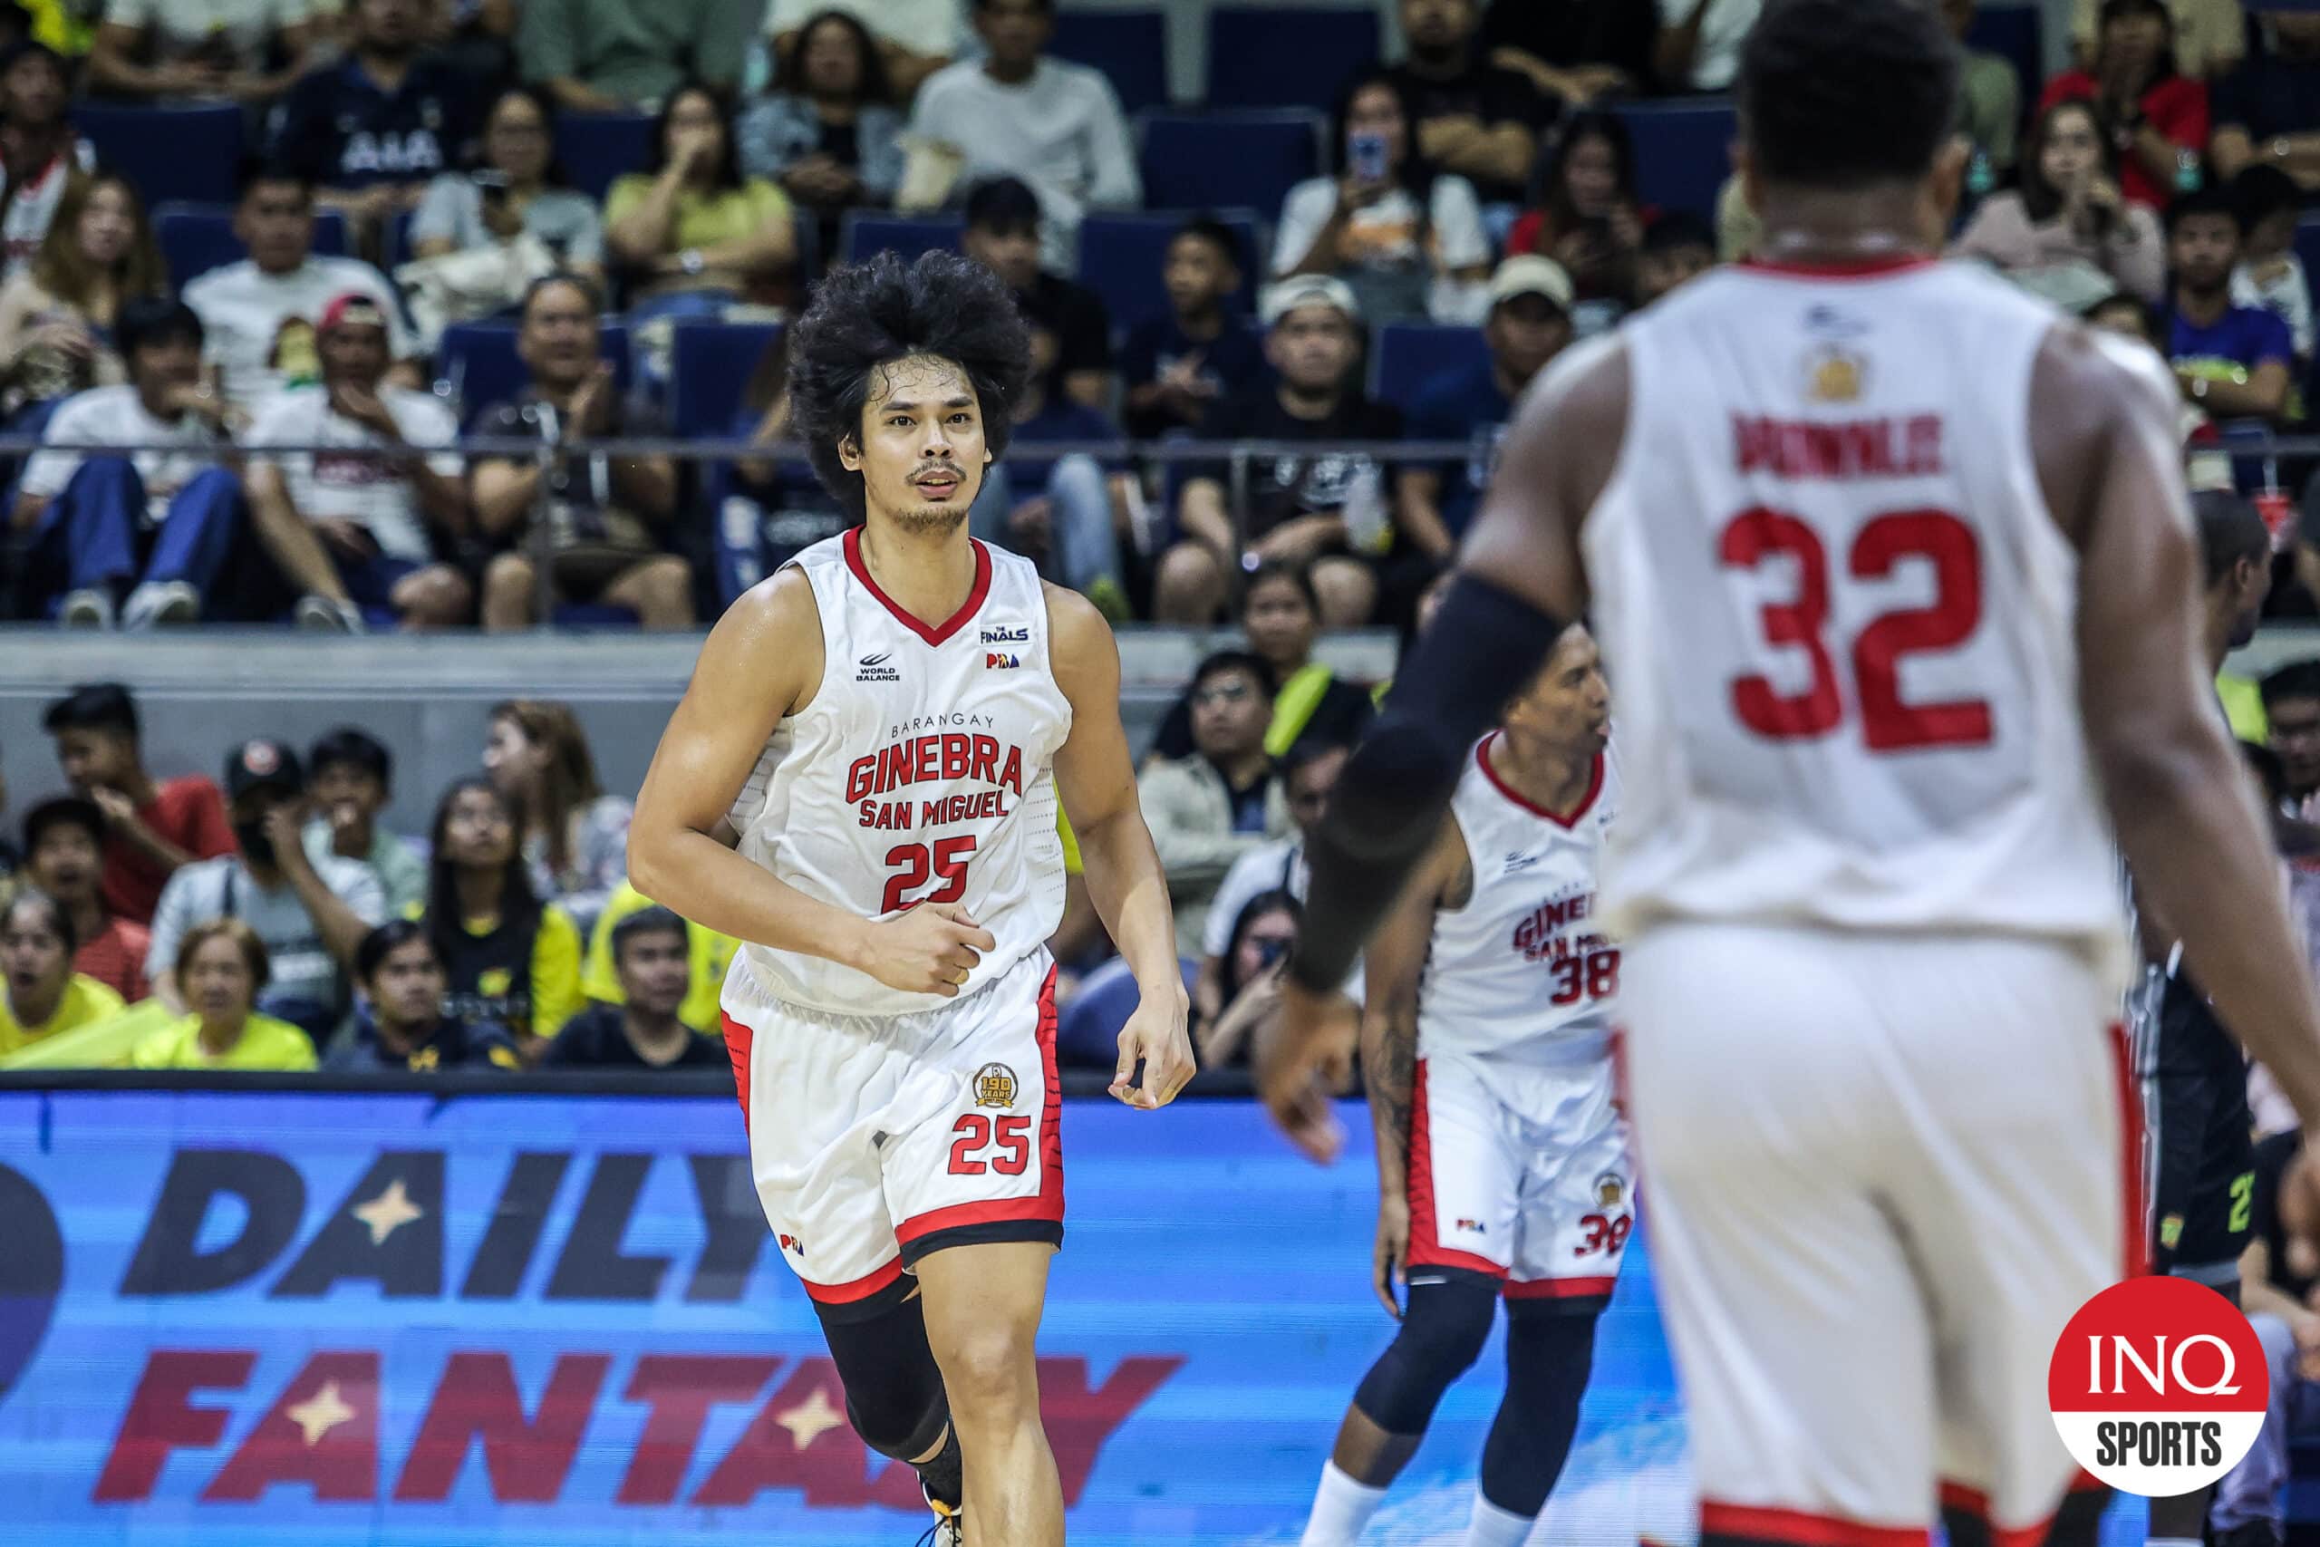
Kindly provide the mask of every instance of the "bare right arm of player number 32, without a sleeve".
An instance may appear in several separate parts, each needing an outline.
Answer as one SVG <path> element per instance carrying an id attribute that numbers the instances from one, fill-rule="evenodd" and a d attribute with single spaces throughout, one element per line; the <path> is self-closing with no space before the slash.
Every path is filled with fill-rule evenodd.
<path id="1" fill-rule="evenodd" d="M 2223 1023 L 2311 1134 L 2320 1011 L 2269 833 L 2204 680 L 2172 383 L 2065 329 L 2039 355 L 2032 397 L 2049 508 L 2081 554 L 2079 700 L 2118 844 Z"/>

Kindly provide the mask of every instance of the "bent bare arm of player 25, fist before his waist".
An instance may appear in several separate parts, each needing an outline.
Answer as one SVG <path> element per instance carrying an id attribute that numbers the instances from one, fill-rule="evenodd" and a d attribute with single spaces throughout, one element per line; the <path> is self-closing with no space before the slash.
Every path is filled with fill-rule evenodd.
<path id="1" fill-rule="evenodd" d="M 821 687 L 821 622 L 805 575 L 756 584 L 710 631 L 636 796 L 629 879 L 694 923 L 844 963 L 912 993 L 956 995 L 991 935 L 963 909 L 872 923 L 807 898 L 719 842 L 766 738 Z"/>

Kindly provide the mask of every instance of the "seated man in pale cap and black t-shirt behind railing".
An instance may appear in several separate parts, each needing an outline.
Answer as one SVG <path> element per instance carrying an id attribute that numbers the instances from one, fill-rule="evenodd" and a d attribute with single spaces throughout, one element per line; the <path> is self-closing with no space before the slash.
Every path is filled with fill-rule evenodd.
<path id="1" fill-rule="evenodd" d="M 1401 415 L 1362 397 L 1362 311 L 1346 281 L 1299 274 L 1264 292 L 1264 359 L 1276 380 L 1227 399 L 1204 441 L 1399 441 Z M 1176 517 L 1183 538 L 1160 559 L 1153 612 L 1167 624 L 1209 624 L 1225 580 L 1267 559 L 1308 564 L 1327 629 L 1357 629 L 1376 612 L 1408 615 L 1431 561 L 1397 536 L 1385 471 L 1366 455 L 1320 450 L 1248 466 L 1248 524 L 1234 531 L 1232 471 L 1188 469 Z"/>

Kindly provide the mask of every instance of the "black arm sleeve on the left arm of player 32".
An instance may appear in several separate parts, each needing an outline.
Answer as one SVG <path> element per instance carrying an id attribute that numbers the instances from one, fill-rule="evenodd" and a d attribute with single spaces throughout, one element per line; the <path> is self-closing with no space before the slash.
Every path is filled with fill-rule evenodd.
<path id="1" fill-rule="evenodd" d="M 1292 979 L 1315 993 L 1346 981 L 1431 847 L 1466 749 L 1499 724 L 1564 626 L 1487 580 L 1450 582 L 1441 617 L 1401 663 L 1385 712 L 1339 775 L 1329 816 L 1306 847 L 1313 881 Z"/>

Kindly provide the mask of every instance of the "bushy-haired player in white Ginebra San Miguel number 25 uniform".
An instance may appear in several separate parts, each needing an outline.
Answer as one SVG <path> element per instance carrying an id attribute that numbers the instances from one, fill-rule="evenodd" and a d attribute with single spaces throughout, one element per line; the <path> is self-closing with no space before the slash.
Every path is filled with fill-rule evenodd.
<path id="1" fill-rule="evenodd" d="M 1028 359 L 956 255 L 821 283 L 791 392 L 861 524 L 710 633 L 629 840 L 645 895 L 745 942 L 724 1027 L 759 1199 L 847 1417 L 967 1547 L 1063 1542 L 1032 1357 L 1063 1241 L 1058 786 L 1144 986 L 1111 1092 L 1155 1109 L 1192 1076 L 1111 631 L 965 529 Z"/>

